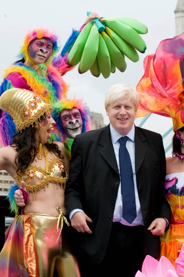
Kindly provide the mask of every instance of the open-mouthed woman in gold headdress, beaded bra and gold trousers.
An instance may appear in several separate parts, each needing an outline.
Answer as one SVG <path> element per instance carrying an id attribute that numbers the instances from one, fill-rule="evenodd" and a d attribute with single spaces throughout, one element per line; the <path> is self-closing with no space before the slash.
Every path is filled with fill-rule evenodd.
<path id="1" fill-rule="evenodd" d="M 12 198 L 20 188 L 25 202 L 22 214 L 16 215 L 6 232 L 0 276 L 79 277 L 66 243 L 70 227 L 64 189 L 69 158 L 63 143 L 48 142 L 55 124 L 52 107 L 34 92 L 12 88 L 0 96 L 0 108 L 11 115 L 18 131 L 11 145 L 0 148 L 0 170 L 6 170 L 17 184 Z M 18 211 L 9 198 L 10 208 Z"/>

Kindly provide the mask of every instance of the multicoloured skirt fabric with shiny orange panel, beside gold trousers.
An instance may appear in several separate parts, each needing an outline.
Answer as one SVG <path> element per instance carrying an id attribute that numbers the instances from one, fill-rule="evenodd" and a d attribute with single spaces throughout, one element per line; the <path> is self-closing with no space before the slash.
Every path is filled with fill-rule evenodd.
<path id="1" fill-rule="evenodd" d="M 0 253 L 0 276 L 38 277 L 36 244 L 28 222 L 31 216 L 17 215 L 8 227 Z"/>

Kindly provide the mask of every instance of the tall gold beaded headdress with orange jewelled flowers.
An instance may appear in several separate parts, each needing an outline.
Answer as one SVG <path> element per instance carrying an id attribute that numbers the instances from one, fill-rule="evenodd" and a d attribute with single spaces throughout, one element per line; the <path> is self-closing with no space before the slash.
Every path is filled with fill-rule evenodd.
<path id="1" fill-rule="evenodd" d="M 21 131 L 33 123 L 38 125 L 38 118 L 49 114 L 52 106 L 34 92 L 20 88 L 6 90 L 0 96 L 0 109 L 7 111 L 14 120 L 17 131 Z"/>

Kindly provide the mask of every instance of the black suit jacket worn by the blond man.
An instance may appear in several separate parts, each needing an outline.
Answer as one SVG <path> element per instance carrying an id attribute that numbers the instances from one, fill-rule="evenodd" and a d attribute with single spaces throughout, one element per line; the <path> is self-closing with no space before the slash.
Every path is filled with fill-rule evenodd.
<path id="1" fill-rule="evenodd" d="M 170 206 L 163 192 L 166 160 L 160 134 L 135 127 L 135 170 L 144 221 L 144 254 L 159 256 L 160 238 L 147 230 L 157 217 L 170 220 Z M 109 236 L 120 176 L 109 125 L 75 137 L 65 189 L 67 212 L 82 209 L 91 219 L 93 234 L 73 229 L 74 249 L 92 265 L 101 263 Z M 132 227 L 133 228 L 133 227 Z"/>

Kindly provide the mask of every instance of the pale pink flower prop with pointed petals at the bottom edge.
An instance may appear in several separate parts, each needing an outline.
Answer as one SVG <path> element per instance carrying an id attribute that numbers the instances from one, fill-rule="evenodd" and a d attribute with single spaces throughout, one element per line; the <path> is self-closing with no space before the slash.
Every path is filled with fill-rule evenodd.
<path id="1" fill-rule="evenodd" d="M 142 272 L 137 271 L 135 277 L 178 277 L 172 263 L 164 256 L 159 262 L 147 255 L 142 264 Z"/>

